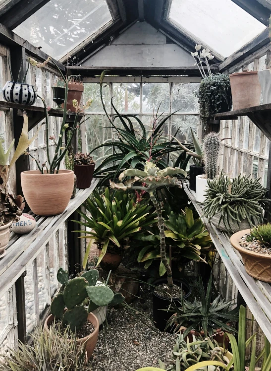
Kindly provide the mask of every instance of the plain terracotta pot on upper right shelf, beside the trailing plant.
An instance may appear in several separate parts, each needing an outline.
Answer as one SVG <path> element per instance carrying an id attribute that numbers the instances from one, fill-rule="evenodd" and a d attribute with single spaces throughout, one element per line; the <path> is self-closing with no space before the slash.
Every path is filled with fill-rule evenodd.
<path id="1" fill-rule="evenodd" d="M 259 106 L 261 85 L 257 71 L 232 73 L 229 78 L 234 111 Z"/>

